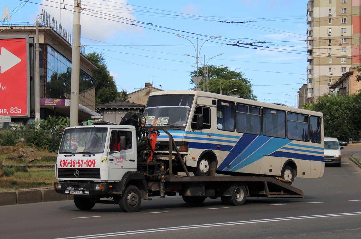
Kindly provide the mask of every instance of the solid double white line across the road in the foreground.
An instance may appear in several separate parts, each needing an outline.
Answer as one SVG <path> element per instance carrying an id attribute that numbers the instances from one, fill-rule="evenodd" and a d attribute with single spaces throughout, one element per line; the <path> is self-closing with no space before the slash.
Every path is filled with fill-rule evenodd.
<path id="1" fill-rule="evenodd" d="M 280 217 L 280 218 L 269 218 L 269 219 L 260 219 L 260 220 L 250 220 L 250 221 L 235 221 L 235 222 L 221 222 L 221 223 L 213 223 L 213 224 L 200 224 L 200 225 L 164 227 L 164 228 L 135 230 L 135 231 L 119 231 L 119 232 L 116 232 L 116 233 L 92 234 L 92 235 L 84 235 L 84 236 L 70 236 L 70 237 L 55 238 L 55 239 L 108 238 L 108 237 L 111 237 L 111 236 L 124 236 L 124 235 L 155 233 L 155 232 L 164 232 L 164 231 L 190 230 L 190 229 L 199 229 L 199 228 L 206 228 L 206 227 L 234 226 L 234 225 L 265 223 L 265 222 L 278 222 L 278 221 L 303 220 L 303 219 L 325 218 L 325 217 L 340 217 L 340 216 L 355 216 L 355 215 L 361 215 L 361 212 L 335 213 L 335 214 L 324 214 L 324 215 L 310 215 L 310 216 L 299 216 L 299 217 Z"/>

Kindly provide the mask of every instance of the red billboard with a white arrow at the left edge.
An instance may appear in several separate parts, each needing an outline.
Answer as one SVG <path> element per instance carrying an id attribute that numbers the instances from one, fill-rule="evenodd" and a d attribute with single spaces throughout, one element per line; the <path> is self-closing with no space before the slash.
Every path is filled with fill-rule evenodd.
<path id="1" fill-rule="evenodd" d="M 0 115 L 29 117 L 28 55 L 27 37 L 0 39 Z"/>

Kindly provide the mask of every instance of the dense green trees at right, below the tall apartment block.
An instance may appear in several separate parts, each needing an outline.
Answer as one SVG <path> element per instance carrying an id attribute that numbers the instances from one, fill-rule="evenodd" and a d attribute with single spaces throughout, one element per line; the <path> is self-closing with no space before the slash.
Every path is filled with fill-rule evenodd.
<path id="1" fill-rule="evenodd" d="M 361 93 L 340 95 L 328 93 L 317 98 L 309 109 L 323 113 L 325 136 L 340 140 L 360 137 Z"/>

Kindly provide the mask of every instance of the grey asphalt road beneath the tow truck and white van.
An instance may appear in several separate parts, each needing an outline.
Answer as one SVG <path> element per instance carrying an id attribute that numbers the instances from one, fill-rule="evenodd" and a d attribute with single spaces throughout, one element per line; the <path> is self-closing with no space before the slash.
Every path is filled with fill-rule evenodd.
<path id="1" fill-rule="evenodd" d="M 248 198 L 237 207 L 156 197 L 136 213 L 109 204 L 79 211 L 72 201 L 1 206 L 0 238 L 361 238 L 361 169 L 348 159 L 361 146 L 344 148 L 341 167 L 296 178 L 303 199 Z"/>

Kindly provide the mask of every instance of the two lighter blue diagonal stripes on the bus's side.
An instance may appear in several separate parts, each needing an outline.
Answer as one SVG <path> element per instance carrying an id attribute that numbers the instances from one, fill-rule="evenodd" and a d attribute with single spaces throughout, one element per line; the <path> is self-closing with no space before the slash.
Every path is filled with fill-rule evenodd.
<path id="1" fill-rule="evenodd" d="M 242 152 L 235 161 L 230 164 L 230 168 L 225 171 L 238 171 L 240 168 L 273 153 L 275 149 L 279 149 L 291 141 L 289 139 L 270 138 L 265 136 L 259 136 L 258 138 L 260 138 L 260 140 L 258 142 L 255 140 L 254 145 L 251 144 L 244 152 Z M 246 162 L 244 162 L 245 159 L 247 159 Z"/>

